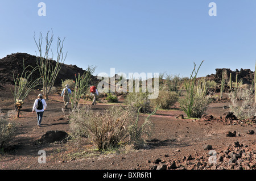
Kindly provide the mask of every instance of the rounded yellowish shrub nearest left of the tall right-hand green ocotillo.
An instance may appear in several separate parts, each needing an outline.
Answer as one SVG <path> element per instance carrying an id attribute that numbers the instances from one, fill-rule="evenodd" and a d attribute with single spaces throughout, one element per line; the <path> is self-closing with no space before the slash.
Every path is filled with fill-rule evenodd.
<path id="1" fill-rule="evenodd" d="M 174 106 L 178 99 L 178 95 L 175 92 L 160 90 L 158 98 L 153 99 L 152 102 L 155 105 L 160 105 L 160 108 L 168 110 L 171 106 Z"/>

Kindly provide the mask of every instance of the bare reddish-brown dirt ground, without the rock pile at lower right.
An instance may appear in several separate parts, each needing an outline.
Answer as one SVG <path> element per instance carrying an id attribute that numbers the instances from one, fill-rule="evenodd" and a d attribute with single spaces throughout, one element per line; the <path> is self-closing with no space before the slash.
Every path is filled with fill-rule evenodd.
<path id="1" fill-rule="evenodd" d="M 10 90 L 9 87 L 1 90 L 0 94 L 2 112 L 14 109 L 13 98 L 10 91 L 7 90 Z M 204 149 L 205 145 L 212 145 L 212 149 L 221 154 L 222 150 L 232 146 L 237 141 L 255 151 L 256 134 L 246 134 L 249 129 L 256 131 L 255 125 L 224 125 L 193 119 L 177 119 L 176 116 L 184 112 L 175 109 L 170 111 L 159 110 L 156 115 L 151 116 L 155 127 L 145 148 L 131 150 L 128 153 L 98 153 L 97 155 L 82 157 L 79 156 L 82 150 L 86 151 L 92 148 L 90 142 L 85 142 L 84 145 L 80 146 L 74 145 L 73 142 L 38 144 L 37 140 L 47 131 L 65 131 L 67 133 L 70 131 L 68 119 L 61 111 L 64 104 L 59 94 L 49 96 L 42 127 L 36 125 L 36 114 L 32 113 L 32 104 L 39 92 L 32 92 L 28 96 L 22 108 L 22 115 L 20 115 L 20 118 L 15 118 L 18 135 L 11 142 L 10 151 L 0 155 L 0 169 L 152 169 L 157 165 L 153 163 L 157 158 L 164 163 L 172 160 L 180 161 L 189 154 L 199 154 L 207 158 L 209 157 L 209 150 Z M 89 104 L 89 102 L 87 103 Z M 226 104 L 212 103 L 207 113 L 220 116 L 220 114 L 228 111 L 223 108 Z M 92 108 L 93 110 L 104 110 L 109 107 L 108 105 L 98 103 Z M 141 118 L 143 119 L 143 115 L 141 115 Z M 240 133 L 240 136 L 226 137 L 225 133 L 227 131 L 236 131 Z M 77 149 L 77 147 L 80 148 Z M 46 164 L 38 163 L 39 150 L 46 151 Z M 75 154 L 73 151 L 77 150 L 80 152 Z M 67 158 L 71 157 L 66 155 L 73 155 L 72 157 L 75 157 L 75 159 L 69 160 Z"/>

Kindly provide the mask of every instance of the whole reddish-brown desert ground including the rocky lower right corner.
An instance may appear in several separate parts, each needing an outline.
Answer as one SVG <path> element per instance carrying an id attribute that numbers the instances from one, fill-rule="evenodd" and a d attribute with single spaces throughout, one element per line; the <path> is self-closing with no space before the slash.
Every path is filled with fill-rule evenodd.
<path id="1" fill-rule="evenodd" d="M 1 113 L 13 111 L 17 135 L 0 154 L 1 170 L 254 170 L 256 169 L 256 121 L 224 119 L 229 111 L 229 101 L 216 101 L 209 105 L 209 119 L 181 119 L 184 112 L 179 106 L 171 110 L 158 110 L 150 119 L 154 131 L 147 145 L 140 149 L 125 151 L 97 151 L 88 138 L 75 140 L 39 142 L 48 131 L 70 132 L 68 110 L 64 108 L 60 92 L 49 95 L 42 127 L 36 125 L 36 113 L 32 106 L 39 90 L 31 91 L 21 114 L 16 117 L 13 85 L 0 90 Z M 81 104 L 91 104 L 81 100 Z M 119 99 L 118 104 L 122 104 Z M 92 106 L 94 111 L 104 110 L 114 104 L 101 103 Z M 69 104 L 70 108 L 70 104 Z M 146 114 L 141 114 L 143 119 Z M 220 118 L 222 116 L 222 119 Z M 236 135 L 227 136 L 236 131 Z M 46 151 L 46 163 L 39 163 L 39 150 Z M 211 153 L 209 153 L 213 150 Z M 212 154 L 213 153 L 213 154 Z M 215 159 L 216 162 L 211 162 Z"/>

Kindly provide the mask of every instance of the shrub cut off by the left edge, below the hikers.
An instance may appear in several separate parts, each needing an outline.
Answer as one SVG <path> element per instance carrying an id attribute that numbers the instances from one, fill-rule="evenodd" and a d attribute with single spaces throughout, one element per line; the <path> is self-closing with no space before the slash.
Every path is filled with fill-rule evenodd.
<path id="1" fill-rule="evenodd" d="M 15 131 L 15 125 L 7 121 L 7 117 L 0 112 L 0 149 L 3 149 L 13 140 Z"/>

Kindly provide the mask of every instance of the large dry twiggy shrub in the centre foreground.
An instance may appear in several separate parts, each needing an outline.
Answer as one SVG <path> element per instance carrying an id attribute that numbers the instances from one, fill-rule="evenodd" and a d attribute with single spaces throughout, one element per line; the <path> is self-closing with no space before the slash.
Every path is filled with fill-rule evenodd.
<path id="1" fill-rule="evenodd" d="M 150 135 L 152 113 L 139 127 L 139 112 L 137 115 L 129 107 L 113 106 L 105 111 L 93 111 L 85 106 L 73 111 L 69 121 L 72 136 L 86 136 L 97 149 L 108 150 L 121 142 L 142 143 L 143 137 Z"/>

